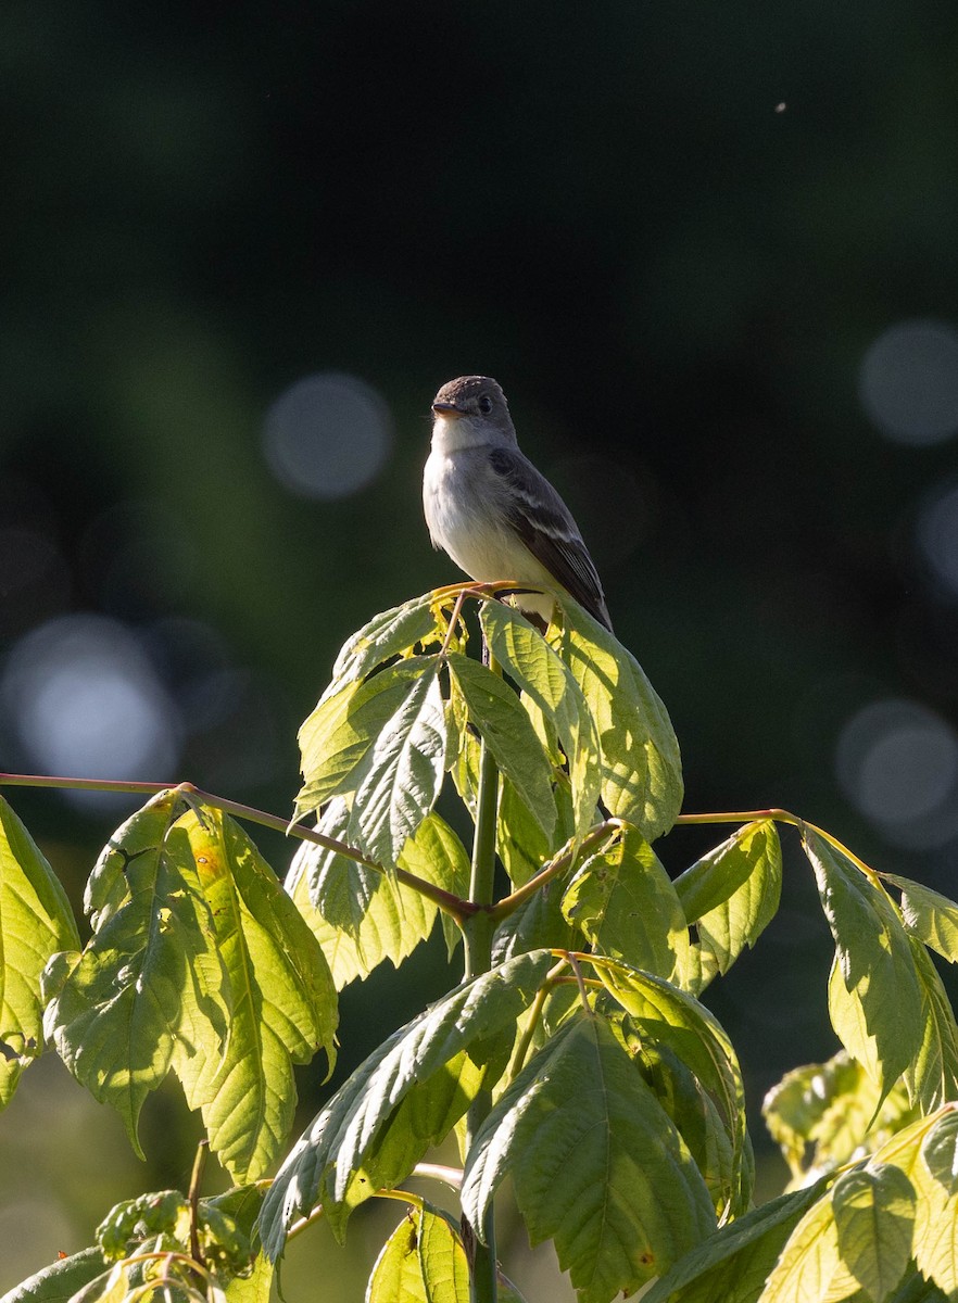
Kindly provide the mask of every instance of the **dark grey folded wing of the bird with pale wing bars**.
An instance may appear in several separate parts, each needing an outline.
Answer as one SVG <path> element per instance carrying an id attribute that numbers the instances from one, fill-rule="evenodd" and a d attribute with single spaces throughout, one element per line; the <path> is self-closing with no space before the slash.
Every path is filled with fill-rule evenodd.
<path id="1" fill-rule="evenodd" d="M 511 528 L 553 579 L 611 633 L 598 572 L 566 503 L 519 450 L 493 448 L 489 464 L 506 490 Z"/>

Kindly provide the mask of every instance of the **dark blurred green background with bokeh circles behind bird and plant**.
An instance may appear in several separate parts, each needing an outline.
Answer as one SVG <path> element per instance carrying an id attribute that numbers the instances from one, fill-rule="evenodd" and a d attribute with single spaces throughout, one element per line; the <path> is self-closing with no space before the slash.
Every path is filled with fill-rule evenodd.
<path id="1" fill-rule="evenodd" d="M 481 371 L 670 708 L 687 809 L 783 805 L 954 894 L 955 66 L 933 0 L 8 0 L 0 767 L 287 813 L 339 645 L 457 577 L 420 476 L 433 394 Z M 133 808 L 13 804 L 77 904 Z M 709 993 L 755 1105 L 835 1048 L 829 954 L 790 846 Z M 343 1071 L 450 980 L 435 946 L 348 992 Z M 0 1289 L 188 1179 L 177 1093 L 146 1114 L 147 1173 L 31 1070 Z"/>

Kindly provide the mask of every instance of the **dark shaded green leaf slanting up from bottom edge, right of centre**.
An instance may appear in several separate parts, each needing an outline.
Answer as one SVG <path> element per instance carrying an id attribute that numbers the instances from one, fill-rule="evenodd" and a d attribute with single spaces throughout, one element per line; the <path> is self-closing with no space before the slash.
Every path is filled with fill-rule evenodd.
<path id="1" fill-rule="evenodd" d="M 643 1295 L 643 1303 L 756 1303 L 800 1218 L 828 1182 L 781 1195 L 687 1253 Z"/>

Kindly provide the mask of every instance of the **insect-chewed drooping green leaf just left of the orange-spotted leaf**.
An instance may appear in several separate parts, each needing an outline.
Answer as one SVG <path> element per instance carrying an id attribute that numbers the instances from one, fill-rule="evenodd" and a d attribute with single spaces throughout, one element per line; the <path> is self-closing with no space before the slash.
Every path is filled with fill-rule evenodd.
<path id="1" fill-rule="evenodd" d="M 53 997 L 46 1035 L 94 1098 L 117 1109 L 141 1156 L 139 1110 L 169 1070 L 186 1003 L 218 1048 L 229 1016 L 196 865 L 167 853 L 175 805 L 176 794 L 163 792 L 117 829 L 89 895 L 109 900 L 99 928 L 81 956 L 53 960 L 44 979 Z"/>

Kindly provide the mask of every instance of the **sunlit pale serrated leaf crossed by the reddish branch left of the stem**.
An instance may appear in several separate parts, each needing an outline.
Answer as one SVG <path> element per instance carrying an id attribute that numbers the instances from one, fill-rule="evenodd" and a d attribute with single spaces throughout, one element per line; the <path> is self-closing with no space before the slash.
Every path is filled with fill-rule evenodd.
<path id="1" fill-rule="evenodd" d="M 341 838 L 348 821 L 345 803 L 334 797 L 318 827 Z M 469 859 L 435 813 L 405 843 L 399 865 L 446 891 L 468 894 Z M 386 959 L 398 968 L 435 924 L 435 904 L 418 891 L 310 842 L 296 852 L 285 887 L 319 941 L 338 989 Z"/>

